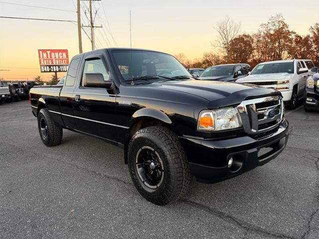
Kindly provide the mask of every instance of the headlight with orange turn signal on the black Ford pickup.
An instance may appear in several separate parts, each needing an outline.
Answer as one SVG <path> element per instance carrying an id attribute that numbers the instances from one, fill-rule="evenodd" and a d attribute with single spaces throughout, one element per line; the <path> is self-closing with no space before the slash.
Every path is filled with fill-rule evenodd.
<path id="1" fill-rule="evenodd" d="M 220 110 L 206 110 L 199 113 L 197 130 L 219 131 L 241 126 L 240 117 L 236 108 Z"/>

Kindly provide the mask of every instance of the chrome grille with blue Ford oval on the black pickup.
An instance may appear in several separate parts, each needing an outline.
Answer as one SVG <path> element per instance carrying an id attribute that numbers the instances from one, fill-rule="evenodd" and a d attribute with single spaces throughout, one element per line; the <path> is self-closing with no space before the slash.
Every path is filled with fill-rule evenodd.
<path id="1" fill-rule="evenodd" d="M 277 127 L 284 112 L 281 96 L 269 96 L 243 101 L 237 106 L 243 128 L 248 134 L 257 134 Z"/>

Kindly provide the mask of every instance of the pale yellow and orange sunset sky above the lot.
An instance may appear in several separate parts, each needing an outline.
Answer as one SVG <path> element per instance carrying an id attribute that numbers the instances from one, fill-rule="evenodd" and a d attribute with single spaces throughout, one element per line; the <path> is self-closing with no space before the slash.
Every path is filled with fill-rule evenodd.
<path id="1" fill-rule="evenodd" d="M 88 3 L 81 0 L 84 8 Z M 76 0 L 0 0 L 0 15 L 76 21 L 74 4 Z M 309 33 L 310 26 L 319 22 L 319 0 L 103 0 L 103 5 L 101 1 L 94 2 L 99 15 L 95 24 L 101 25 L 100 17 L 105 30 L 105 33 L 101 28 L 95 30 L 98 48 L 108 47 L 105 34 L 110 46 L 116 46 L 107 28 L 105 13 L 118 46 L 130 46 L 132 10 L 133 47 L 184 53 L 189 59 L 200 58 L 204 52 L 214 50 L 210 44 L 216 39 L 213 26 L 226 15 L 241 22 L 242 33 L 256 32 L 261 23 L 277 13 L 282 13 L 290 28 L 301 35 Z M 87 17 L 83 11 L 81 13 L 82 23 L 87 25 Z M 86 31 L 89 33 L 89 28 Z M 91 50 L 83 31 L 82 45 L 83 51 Z M 31 80 L 40 75 L 49 80 L 51 73 L 40 73 L 37 49 L 68 49 L 71 59 L 78 54 L 76 23 L 0 18 L 0 78 Z"/>

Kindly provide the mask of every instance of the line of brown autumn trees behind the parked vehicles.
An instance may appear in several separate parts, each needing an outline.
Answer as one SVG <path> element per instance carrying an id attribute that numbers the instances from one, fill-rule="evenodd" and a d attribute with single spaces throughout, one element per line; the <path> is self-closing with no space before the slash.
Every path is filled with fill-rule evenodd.
<path id="1" fill-rule="evenodd" d="M 241 32 L 241 23 L 228 16 L 214 26 L 217 39 L 211 46 L 217 52 L 205 52 L 201 59 L 189 60 L 183 53 L 175 57 L 186 68 L 206 68 L 227 63 L 248 63 L 252 67 L 260 62 L 311 59 L 319 66 L 319 23 L 310 27 L 307 35 L 299 35 L 289 28 L 282 14 L 269 18 L 256 33 Z"/>

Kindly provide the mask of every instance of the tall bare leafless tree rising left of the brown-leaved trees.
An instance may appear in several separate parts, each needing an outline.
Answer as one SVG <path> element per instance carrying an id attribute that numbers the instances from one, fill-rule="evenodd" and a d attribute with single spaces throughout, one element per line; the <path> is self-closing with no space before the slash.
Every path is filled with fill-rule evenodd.
<path id="1" fill-rule="evenodd" d="M 229 43 L 241 31 L 241 23 L 236 23 L 231 20 L 229 16 L 226 16 L 224 20 L 218 21 L 216 23 L 214 29 L 217 31 L 218 36 L 215 44 L 211 43 L 211 45 L 220 48 L 225 54 L 227 62 L 229 62 Z"/>

